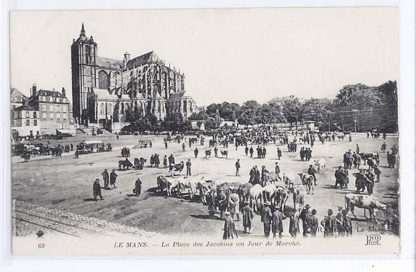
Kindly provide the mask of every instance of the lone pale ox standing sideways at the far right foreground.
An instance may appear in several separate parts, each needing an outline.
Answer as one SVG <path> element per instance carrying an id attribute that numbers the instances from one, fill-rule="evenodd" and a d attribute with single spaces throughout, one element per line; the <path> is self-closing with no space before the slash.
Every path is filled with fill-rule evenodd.
<path id="1" fill-rule="evenodd" d="M 379 210 L 386 212 L 387 206 L 388 204 L 382 203 L 379 199 L 371 195 L 345 194 L 345 209 L 351 210 L 352 215 L 354 215 L 354 207 L 363 208 L 365 219 L 367 219 L 365 216 L 365 210 L 367 209 L 370 211 L 370 220 L 374 218 L 376 223 L 378 223 L 376 213 Z M 354 218 L 356 218 L 356 215 L 354 215 Z"/>

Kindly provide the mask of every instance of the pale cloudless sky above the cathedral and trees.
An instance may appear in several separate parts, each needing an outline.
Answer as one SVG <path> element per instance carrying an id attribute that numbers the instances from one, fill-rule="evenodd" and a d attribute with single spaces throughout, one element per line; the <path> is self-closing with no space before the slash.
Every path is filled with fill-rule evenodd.
<path id="1" fill-rule="evenodd" d="M 70 46 L 83 23 L 99 56 L 155 51 L 200 106 L 333 99 L 347 84 L 399 80 L 395 7 L 19 11 L 10 13 L 11 87 L 65 87 L 71 99 Z"/>

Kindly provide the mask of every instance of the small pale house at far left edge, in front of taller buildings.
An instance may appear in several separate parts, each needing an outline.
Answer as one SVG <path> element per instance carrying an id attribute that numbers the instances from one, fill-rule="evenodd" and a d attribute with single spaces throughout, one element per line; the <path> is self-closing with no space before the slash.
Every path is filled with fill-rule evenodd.
<path id="1" fill-rule="evenodd" d="M 31 105 L 21 105 L 11 111 L 12 136 L 40 135 L 39 111 Z"/>

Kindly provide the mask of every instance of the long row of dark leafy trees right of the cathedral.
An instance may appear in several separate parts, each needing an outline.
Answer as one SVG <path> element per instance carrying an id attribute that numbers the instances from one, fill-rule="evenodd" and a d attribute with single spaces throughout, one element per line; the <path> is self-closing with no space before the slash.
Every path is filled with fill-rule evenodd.
<path id="1" fill-rule="evenodd" d="M 334 100 L 301 101 L 291 96 L 260 105 L 255 100 L 237 103 L 213 103 L 194 114 L 190 120 L 205 120 L 215 126 L 218 116 L 223 120 L 238 120 L 241 125 L 258 123 L 290 123 L 313 120 L 325 130 L 367 131 L 378 128 L 383 132 L 397 132 L 397 83 L 386 82 L 378 87 L 364 84 L 347 85 Z"/>

